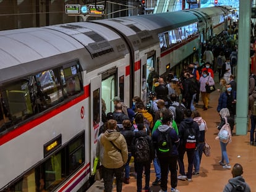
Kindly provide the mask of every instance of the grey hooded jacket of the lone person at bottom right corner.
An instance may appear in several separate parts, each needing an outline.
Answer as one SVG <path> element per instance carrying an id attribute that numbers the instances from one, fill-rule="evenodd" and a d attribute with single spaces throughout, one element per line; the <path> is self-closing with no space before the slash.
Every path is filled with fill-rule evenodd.
<path id="1" fill-rule="evenodd" d="M 250 192 L 250 186 L 245 183 L 245 180 L 244 178 L 242 178 L 242 176 L 237 176 L 229 179 L 228 184 L 224 187 L 223 192 L 231 192 L 232 189 L 237 185 L 241 185 L 244 188 L 245 192 Z"/>

